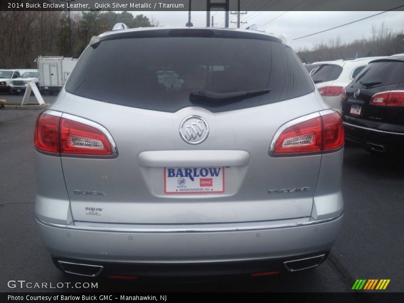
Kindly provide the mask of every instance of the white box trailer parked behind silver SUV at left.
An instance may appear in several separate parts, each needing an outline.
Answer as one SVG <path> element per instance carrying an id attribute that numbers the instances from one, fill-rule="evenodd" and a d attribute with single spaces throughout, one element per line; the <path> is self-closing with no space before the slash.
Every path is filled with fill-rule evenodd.
<path id="1" fill-rule="evenodd" d="M 58 93 L 65 84 L 78 59 L 65 57 L 42 57 L 37 60 L 39 91 Z"/>

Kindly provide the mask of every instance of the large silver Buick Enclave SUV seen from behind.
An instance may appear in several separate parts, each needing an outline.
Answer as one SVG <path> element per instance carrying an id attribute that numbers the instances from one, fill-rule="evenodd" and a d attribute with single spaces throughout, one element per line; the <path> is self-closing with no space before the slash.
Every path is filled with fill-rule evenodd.
<path id="1" fill-rule="evenodd" d="M 94 37 L 34 145 L 37 225 L 68 273 L 297 271 L 325 260 L 341 225 L 340 115 L 272 34 Z"/>

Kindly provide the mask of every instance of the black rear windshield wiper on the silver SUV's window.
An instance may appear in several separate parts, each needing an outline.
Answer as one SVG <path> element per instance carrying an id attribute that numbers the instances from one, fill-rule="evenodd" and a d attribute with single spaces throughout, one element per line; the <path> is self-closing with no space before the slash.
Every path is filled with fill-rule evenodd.
<path id="1" fill-rule="evenodd" d="M 223 102 L 239 102 L 246 98 L 252 98 L 269 93 L 271 89 L 257 89 L 249 91 L 235 91 L 219 93 L 205 89 L 193 89 L 189 94 L 189 100 L 192 101 L 208 101 L 212 103 Z"/>

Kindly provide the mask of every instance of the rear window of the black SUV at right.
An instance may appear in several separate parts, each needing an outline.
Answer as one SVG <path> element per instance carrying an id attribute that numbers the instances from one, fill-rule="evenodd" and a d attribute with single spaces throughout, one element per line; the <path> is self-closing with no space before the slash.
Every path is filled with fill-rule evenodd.
<path id="1" fill-rule="evenodd" d="M 370 63 L 354 80 L 354 86 L 383 86 L 404 82 L 404 62 L 379 61 Z"/>

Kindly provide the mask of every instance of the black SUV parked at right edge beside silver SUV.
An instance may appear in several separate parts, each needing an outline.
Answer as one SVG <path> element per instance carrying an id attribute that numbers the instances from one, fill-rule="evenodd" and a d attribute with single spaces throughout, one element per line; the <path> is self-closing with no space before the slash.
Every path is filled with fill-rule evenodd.
<path id="1" fill-rule="evenodd" d="M 347 140 L 373 153 L 404 151 L 404 57 L 370 62 L 341 100 Z"/>

